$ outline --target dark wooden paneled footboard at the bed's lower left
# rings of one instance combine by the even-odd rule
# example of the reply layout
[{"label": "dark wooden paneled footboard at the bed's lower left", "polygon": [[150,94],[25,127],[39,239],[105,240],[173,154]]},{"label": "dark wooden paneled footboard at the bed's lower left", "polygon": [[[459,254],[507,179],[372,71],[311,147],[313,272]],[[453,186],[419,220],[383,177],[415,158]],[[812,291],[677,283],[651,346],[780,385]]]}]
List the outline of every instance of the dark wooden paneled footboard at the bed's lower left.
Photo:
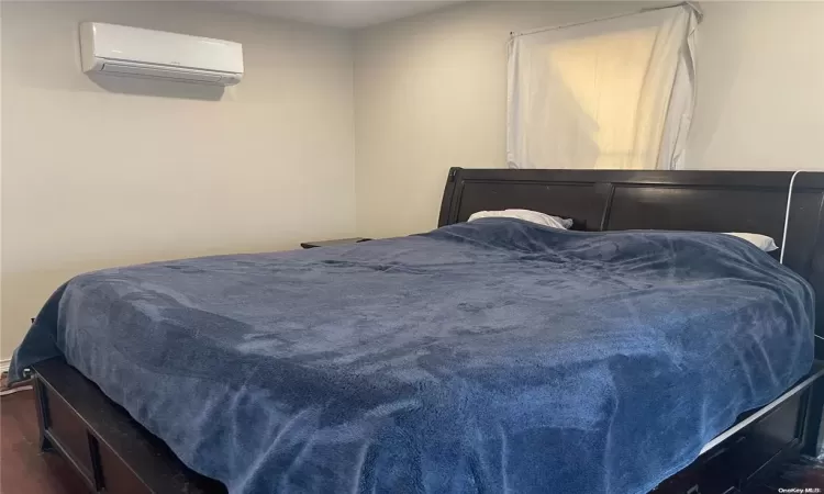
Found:
[{"label": "dark wooden paneled footboard at the bed's lower left", "polygon": [[77,370],[34,366],[41,445],[60,453],[91,492],[218,494],[226,487],[188,469],[169,448]]}]

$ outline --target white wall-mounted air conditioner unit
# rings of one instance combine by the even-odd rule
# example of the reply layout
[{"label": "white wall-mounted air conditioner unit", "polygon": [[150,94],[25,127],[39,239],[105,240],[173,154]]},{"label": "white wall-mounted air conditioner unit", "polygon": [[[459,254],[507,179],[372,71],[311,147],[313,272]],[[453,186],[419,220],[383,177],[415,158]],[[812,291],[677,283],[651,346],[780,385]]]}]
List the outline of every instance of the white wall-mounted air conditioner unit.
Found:
[{"label": "white wall-mounted air conditioner unit", "polygon": [[82,70],[216,86],[243,78],[243,46],[230,41],[83,22]]}]

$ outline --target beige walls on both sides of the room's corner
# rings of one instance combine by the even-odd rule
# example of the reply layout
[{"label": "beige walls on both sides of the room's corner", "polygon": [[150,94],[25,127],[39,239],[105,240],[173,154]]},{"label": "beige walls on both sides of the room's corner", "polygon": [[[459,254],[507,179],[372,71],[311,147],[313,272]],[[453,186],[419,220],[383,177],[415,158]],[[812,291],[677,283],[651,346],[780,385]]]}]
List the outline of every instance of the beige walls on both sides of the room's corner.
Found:
[{"label": "beige walls on both sides of the room's corner", "polygon": [[[79,272],[433,228],[450,166],[504,164],[509,32],[638,5],[475,2],[363,30],[353,54],[203,2],[3,2],[0,358]],[[823,168],[824,3],[704,9],[691,167]],[[246,77],[90,80],[83,20],[238,41]]]}]

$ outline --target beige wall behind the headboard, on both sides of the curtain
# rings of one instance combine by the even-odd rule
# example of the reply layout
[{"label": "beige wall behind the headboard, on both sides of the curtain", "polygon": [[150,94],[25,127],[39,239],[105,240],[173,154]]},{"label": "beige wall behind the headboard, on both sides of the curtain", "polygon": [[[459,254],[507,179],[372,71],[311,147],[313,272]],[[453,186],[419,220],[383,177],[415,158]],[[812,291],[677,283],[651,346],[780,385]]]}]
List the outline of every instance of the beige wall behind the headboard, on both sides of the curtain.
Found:
[{"label": "beige wall behind the headboard, on both sides of the curtain", "polygon": [[[690,166],[824,168],[824,3],[703,7]],[[505,165],[510,31],[636,8],[478,2],[359,32],[358,234],[431,229],[450,166]]]}]

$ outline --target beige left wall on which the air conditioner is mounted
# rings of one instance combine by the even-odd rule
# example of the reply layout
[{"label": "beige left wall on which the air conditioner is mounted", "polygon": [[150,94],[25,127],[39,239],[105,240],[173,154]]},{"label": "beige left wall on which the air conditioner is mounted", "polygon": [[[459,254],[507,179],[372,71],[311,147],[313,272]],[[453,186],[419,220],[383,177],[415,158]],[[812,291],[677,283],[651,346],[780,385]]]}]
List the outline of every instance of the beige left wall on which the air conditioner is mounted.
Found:
[{"label": "beige left wall on which the air conditioner is mounted", "polygon": [[[76,273],[355,233],[347,33],[208,2],[3,2],[1,15],[0,358]],[[246,76],[222,96],[94,82],[79,69],[86,20],[241,42]]]}]

